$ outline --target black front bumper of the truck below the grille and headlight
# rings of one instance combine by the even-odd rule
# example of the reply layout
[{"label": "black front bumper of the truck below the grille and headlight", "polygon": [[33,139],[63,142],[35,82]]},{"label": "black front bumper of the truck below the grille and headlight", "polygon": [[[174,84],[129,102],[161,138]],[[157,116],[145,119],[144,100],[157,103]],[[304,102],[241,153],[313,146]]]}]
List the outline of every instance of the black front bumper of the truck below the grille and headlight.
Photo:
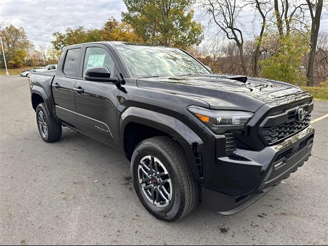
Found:
[{"label": "black front bumper of the truck below the grille and headlight", "polygon": [[[311,156],[314,128],[309,126],[280,144],[262,151],[238,149],[242,158],[218,157],[215,186],[202,188],[204,207],[233,214],[247,208],[301,167]],[[214,188],[214,189],[213,189]]]}]

